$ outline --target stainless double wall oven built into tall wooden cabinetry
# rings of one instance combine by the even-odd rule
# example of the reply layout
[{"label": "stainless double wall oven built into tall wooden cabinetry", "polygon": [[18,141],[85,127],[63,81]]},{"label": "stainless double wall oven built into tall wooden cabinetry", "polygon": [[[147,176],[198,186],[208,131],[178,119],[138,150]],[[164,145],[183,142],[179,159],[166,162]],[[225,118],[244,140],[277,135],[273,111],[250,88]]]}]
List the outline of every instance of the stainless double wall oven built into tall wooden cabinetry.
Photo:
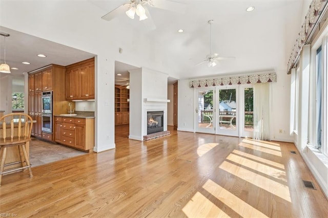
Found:
[{"label": "stainless double wall oven built into tall wooden cabinetry", "polygon": [[52,92],[43,92],[42,104],[42,131],[52,133]]}]

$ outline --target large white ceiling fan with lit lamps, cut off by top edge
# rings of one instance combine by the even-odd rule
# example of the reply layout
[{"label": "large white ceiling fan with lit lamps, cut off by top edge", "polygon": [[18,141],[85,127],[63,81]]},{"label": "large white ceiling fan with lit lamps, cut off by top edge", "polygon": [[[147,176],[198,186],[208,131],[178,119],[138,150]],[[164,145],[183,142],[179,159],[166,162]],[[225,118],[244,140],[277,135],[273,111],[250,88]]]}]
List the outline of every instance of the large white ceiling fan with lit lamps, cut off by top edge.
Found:
[{"label": "large white ceiling fan with lit lamps, cut off by top edge", "polygon": [[[171,2],[169,0],[130,0],[129,3],[123,4],[116,9],[105,14],[101,18],[110,21],[113,18],[123,14],[124,12],[128,17],[134,19],[135,14],[139,16],[139,20],[149,19],[149,22],[153,24],[152,18],[150,16],[148,6],[154,8],[160,8],[164,10],[169,10],[177,13],[185,13],[186,5],[176,2]],[[155,29],[155,25],[152,25]]]}]

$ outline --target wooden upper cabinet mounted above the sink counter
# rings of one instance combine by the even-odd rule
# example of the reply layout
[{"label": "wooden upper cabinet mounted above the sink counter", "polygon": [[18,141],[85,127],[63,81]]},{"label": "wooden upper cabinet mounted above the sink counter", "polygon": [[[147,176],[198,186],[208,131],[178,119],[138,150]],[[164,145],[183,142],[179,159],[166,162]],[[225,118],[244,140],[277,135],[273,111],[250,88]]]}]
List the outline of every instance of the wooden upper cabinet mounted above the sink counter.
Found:
[{"label": "wooden upper cabinet mounted above the sink counter", "polygon": [[66,67],[66,100],[94,99],[94,58]]}]

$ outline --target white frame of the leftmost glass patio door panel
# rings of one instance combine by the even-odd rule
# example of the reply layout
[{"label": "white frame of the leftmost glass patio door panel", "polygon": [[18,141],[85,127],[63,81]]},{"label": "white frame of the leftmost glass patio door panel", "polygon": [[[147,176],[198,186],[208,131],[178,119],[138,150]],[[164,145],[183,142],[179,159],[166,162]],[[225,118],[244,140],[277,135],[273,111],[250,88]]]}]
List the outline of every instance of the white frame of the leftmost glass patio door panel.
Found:
[{"label": "white frame of the leftmost glass patio door panel", "polygon": [[[199,119],[199,113],[198,113],[198,94],[201,91],[208,91],[212,90],[213,91],[213,119],[212,119],[212,126],[211,128],[208,127],[199,127],[198,125],[198,119]],[[216,114],[215,114],[215,104],[216,104],[216,89],[214,87],[209,87],[209,88],[201,88],[201,89],[194,89],[194,132],[195,133],[210,133],[210,134],[215,134],[215,126],[216,126]]]}]

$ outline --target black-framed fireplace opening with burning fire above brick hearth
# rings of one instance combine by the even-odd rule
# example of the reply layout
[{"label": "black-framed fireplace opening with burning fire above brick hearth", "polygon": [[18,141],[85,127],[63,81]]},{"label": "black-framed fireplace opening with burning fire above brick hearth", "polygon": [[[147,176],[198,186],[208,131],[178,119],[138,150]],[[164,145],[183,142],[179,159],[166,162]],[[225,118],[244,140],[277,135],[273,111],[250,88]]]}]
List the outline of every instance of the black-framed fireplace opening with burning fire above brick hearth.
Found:
[{"label": "black-framed fireplace opening with burning fire above brick hearth", "polygon": [[163,111],[147,112],[147,135],[164,130],[163,117]]}]

